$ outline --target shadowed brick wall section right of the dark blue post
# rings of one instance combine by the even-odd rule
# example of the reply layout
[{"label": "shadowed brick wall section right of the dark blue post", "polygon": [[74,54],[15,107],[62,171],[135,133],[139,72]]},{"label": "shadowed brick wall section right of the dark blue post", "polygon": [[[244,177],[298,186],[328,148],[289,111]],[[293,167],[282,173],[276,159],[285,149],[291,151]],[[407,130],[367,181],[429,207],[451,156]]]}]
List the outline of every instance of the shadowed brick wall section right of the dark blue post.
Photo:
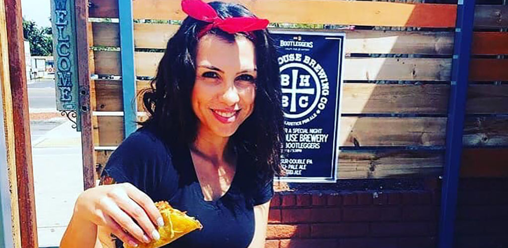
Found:
[{"label": "shadowed brick wall section right of the dark blue post", "polygon": [[508,247],[508,178],[459,181],[455,247]]}]

